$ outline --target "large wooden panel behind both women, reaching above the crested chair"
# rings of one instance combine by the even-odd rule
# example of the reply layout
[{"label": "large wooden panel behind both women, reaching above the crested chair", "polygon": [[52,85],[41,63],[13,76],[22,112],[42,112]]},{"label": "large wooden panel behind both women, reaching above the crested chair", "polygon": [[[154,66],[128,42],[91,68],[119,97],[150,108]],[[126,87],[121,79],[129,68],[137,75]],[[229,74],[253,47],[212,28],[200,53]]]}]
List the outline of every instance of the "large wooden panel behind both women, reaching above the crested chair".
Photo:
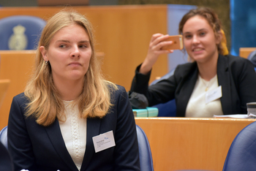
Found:
[{"label": "large wooden panel behind both women, reaching above the crested chair", "polygon": [[[1,7],[0,19],[12,15],[32,15],[48,20],[64,7]],[[67,7],[69,9],[69,7]],[[135,68],[146,58],[152,34],[167,34],[167,4],[76,6],[91,21],[96,50],[104,52],[102,73],[107,80],[129,91]],[[154,65],[151,81],[167,73],[167,55]]]}]

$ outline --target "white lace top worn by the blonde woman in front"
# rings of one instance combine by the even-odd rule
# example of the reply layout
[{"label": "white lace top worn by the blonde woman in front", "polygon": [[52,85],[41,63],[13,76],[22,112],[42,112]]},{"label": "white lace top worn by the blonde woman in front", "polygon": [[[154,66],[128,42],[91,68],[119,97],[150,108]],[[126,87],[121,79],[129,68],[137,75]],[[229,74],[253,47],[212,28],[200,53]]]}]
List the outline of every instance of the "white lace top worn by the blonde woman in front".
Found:
[{"label": "white lace top worn by the blonde woman in front", "polygon": [[61,134],[67,151],[80,170],[86,151],[86,118],[80,118],[78,105],[72,107],[72,101],[64,101],[65,122],[59,121]]}]

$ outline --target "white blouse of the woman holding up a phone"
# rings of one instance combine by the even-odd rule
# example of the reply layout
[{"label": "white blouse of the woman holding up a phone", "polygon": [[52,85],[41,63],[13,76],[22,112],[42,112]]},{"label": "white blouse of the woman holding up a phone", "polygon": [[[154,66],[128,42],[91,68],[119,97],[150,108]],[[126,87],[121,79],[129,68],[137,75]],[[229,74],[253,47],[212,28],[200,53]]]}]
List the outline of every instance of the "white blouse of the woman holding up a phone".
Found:
[{"label": "white blouse of the woman holding up a phone", "polygon": [[218,88],[218,79],[215,75],[211,80],[203,80],[198,75],[195,88],[187,104],[186,117],[190,118],[212,118],[214,115],[223,115],[220,99],[216,99],[206,104],[207,91]]}]

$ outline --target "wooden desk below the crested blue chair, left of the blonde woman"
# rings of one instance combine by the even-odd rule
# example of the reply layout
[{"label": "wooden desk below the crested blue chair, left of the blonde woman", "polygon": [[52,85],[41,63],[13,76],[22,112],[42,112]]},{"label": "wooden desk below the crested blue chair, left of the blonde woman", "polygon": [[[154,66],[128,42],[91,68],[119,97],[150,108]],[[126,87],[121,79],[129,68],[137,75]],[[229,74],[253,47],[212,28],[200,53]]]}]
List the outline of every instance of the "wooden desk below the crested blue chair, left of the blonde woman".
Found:
[{"label": "wooden desk below the crested blue chair, left of the blonde woman", "polygon": [[10,86],[0,107],[0,129],[7,126],[12,98],[24,91],[34,66],[34,50],[0,50],[0,79],[9,79]]}]

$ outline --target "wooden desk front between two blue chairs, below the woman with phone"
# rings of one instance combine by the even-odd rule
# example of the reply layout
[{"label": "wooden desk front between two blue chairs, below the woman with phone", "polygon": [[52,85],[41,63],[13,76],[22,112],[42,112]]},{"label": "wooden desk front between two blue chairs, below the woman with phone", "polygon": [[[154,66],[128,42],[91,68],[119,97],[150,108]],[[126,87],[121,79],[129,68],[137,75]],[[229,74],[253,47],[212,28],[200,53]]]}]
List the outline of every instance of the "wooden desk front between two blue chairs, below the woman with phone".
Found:
[{"label": "wooden desk front between two blue chairs, below the woman with phone", "polygon": [[135,118],[148,137],[155,171],[222,170],[236,134],[254,119]]}]

